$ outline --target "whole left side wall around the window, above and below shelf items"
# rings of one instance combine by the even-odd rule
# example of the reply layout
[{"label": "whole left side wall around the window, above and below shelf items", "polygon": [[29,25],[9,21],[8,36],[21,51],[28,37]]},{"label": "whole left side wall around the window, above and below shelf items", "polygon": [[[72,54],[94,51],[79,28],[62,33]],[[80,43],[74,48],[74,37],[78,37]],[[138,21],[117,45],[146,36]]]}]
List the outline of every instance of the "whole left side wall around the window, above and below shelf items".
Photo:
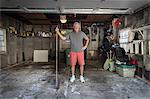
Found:
[{"label": "whole left side wall around the window, above and below shelf items", "polygon": [[[20,28],[19,33],[23,31],[24,23],[4,14],[1,15],[0,23],[1,28],[7,29],[9,26],[16,26],[16,28]],[[0,67],[22,62],[22,39],[7,32],[6,43],[7,52],[0,54]]]}]

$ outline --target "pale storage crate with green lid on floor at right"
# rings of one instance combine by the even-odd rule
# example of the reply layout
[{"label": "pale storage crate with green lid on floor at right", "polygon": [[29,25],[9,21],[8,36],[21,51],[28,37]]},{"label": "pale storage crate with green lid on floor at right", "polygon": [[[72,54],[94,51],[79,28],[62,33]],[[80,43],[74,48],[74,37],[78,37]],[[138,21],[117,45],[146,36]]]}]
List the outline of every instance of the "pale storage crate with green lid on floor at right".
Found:
[{"label": "pale storage crate with green lid on floor at right", "polygon": [[115,65],[116,72],[123,77],[134,77],[135,74],[135,66],[134,65]]}]

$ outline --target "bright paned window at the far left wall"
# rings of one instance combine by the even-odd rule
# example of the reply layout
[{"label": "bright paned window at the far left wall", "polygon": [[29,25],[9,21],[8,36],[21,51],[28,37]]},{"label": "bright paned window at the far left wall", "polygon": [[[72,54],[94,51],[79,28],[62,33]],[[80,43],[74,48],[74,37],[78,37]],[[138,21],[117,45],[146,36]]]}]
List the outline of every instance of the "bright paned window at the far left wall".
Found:
[{"label": "bright paned window at the far left wall", "polygon": [[6,52],[6,29],[0,29],[0,52]]}]

